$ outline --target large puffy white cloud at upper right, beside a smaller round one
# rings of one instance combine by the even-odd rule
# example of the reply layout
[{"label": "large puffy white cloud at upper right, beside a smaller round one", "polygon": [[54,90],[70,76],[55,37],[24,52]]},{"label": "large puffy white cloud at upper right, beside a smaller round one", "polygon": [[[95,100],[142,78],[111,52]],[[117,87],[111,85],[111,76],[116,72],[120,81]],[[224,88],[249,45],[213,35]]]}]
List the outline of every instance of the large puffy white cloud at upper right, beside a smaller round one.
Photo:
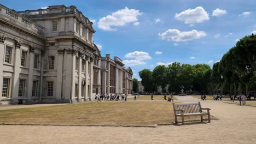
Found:
[{"label": "large puffy white cloud at upper right, beside a smaller round one", "polygon": [[200,23],[210,20],[208,13],[202,7],[187,9],[179,14],[176,13],[175,18],[177,20],[184,21],[186,24]]}]

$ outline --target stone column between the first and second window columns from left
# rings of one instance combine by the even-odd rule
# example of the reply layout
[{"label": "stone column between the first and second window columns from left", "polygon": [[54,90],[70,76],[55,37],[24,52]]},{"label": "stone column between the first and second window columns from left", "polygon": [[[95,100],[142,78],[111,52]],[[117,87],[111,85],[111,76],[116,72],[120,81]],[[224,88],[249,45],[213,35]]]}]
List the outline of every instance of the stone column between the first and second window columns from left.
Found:
[{"label": "stone column between the first and second window columns from left", "polygon": [[14,73],[13,73],[13,97],[11,104],[18,104],[18,92],[19,92],[19,77],[20,77],[20,47],[21,41],[16,41],[15,57],[14,57]]}]

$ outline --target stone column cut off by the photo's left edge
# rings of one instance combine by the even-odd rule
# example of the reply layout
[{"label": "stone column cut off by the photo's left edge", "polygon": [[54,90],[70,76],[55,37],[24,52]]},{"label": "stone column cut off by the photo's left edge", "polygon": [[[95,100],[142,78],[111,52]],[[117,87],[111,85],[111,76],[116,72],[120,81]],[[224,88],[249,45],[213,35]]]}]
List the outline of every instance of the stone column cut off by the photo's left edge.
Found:
[{"label": "stone column cut off by the photo's left edge", "polygon": [[[0,55],[3,56],[0,59],[0,68],[3,68],[3,62],[4,62],[4,41],[6,37],[4,35],[0,35]],[[2,98],[2,88],[3,87],[3,69],[0,70],[0,105],[2,104],[1,98]]]}]

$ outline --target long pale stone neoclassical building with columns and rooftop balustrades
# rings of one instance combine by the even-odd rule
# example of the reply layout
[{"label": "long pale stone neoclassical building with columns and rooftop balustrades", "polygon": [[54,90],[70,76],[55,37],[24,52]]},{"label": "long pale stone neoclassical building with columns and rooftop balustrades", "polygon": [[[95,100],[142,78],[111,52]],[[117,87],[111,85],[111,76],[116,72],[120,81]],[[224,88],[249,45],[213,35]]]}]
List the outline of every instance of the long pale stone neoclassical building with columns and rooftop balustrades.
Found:
[{"label": "long pale stone neoclassical building with columns and rooftop balustrades", "polygon": [[[111,70],[92,24],[74,6],[17,12],[0,4],[0,104],[77,103],[109,94]],[[113,77],[118,88],[111,92],[130,94],[132,70],[119,64],[125,80]]]}]

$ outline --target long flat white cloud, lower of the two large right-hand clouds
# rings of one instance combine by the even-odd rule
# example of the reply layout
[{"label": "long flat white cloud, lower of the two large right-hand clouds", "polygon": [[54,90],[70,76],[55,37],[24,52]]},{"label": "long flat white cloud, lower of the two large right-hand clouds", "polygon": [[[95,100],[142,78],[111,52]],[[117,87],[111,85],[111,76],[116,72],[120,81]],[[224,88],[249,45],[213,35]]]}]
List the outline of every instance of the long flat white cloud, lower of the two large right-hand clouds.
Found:
[{"label": "long flat white cloud, lower of the two large right-hand clouds", "polygon": [[193,39],[200,39],[201,37],[205,37],[207,34],[204,31],[184,31],[181,32],[178,29],[168,29],[164,33],[158,33],[162,40],[171,40],[171,41],[189,41]]}]

